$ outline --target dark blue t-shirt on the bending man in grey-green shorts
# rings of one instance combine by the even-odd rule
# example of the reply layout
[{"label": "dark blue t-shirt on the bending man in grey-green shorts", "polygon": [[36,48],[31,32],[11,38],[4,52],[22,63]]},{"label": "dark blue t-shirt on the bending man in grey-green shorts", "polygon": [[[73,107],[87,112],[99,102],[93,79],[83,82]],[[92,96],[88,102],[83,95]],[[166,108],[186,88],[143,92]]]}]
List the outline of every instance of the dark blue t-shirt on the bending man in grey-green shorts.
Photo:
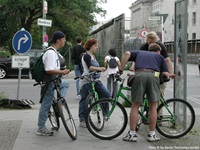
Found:
[{"label": "dark blue t-shirt on the bending man in grey-green shorts", "polygon": [[169,72],[163,56],[156,52],[132,51],[129,61],[135,62],[135,70],[152,69],[157,72]]}]

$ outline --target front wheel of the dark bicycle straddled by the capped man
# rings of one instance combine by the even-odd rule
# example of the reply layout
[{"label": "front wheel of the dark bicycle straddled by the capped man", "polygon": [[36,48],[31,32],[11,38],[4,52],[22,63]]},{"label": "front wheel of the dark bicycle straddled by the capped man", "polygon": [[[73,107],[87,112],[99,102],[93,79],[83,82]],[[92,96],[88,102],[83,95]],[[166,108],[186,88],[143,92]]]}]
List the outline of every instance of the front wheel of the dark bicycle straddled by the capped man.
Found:
[{"label": "front wheel of the dark bicycle straddled by the capped man", "polygon": [[76,140],[77,139],[76,125],[72,117],[72,114],[70,113],[67,102],[65,101],[64,98],[58,100],[58,106],[59,106],[60,117],[67,133],[73,140]]}]

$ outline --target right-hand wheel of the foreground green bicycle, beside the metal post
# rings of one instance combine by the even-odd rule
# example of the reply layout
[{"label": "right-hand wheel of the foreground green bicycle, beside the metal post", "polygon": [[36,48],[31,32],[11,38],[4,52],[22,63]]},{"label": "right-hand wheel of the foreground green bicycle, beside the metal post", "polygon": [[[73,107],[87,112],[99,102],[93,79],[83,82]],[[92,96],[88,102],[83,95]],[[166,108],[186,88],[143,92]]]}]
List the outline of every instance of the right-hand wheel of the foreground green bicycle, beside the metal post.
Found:
[{"label": "right-hand wheel of the foreground green bicycle, beside the metal post", "polygon": [[179,138],[186,135],[195,122],[193,107],[187,101],[176,98],[166,100],[165,103],[167,108],[163,104],[157,108],[158,114],[162,110],[163,115],[158,116],[156,129],[168,138]]}]

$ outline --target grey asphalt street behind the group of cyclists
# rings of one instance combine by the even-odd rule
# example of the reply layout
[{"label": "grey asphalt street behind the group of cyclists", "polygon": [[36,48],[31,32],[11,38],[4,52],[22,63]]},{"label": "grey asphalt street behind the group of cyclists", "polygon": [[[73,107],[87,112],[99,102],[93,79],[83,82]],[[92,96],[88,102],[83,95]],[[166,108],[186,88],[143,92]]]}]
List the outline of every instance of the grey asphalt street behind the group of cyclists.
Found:
[{"label": "grey asphalt street behind the group of cyclists", "polygon": [[[200,108],[200,75],[198,66],[194,64],[189,64],[187,68],[187,100],[195,107]],[[127,71],[128,72],[128,71]],[[124,73],[126,75],[126,73]],[[70,88],[68,89],[67,101],[69,103],[77,103],[76,100],[76,88],[74,80],[74,72],[72,71],[65,78],[70,83]],[[101,80],[106,85],[106,78],[104,73],[101,75]],[[19,86],[19,99],[30,99],[35,104],[39,103],[40,97],[40,87],[34,87],[34,80],[30,79],[21,79]],[[0,89],[1,92],[8,97],[9,99],[17,98],[17,89],[18,89],[18,79],[17,78],[6,78],[0,80]],[[173,80],[167,83],[167,89],[165,92],[165,98],[173,97]]]}]

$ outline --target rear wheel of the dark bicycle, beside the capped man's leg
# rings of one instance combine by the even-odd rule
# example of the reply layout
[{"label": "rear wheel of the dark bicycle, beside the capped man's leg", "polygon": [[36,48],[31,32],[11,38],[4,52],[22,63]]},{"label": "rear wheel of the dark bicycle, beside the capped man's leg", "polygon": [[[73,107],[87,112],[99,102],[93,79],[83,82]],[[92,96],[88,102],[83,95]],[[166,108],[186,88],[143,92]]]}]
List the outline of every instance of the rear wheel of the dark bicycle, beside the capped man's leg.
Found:
[{"label": "rear wheel of the dark bicycle, beside the capped man's leg", "polygon": [[57,107],[56,103],[53,102],[48,114],[48,118],[53,127],[52,128],[53,130],[58,130],[60,128],[59,112],[56,107]]}]

